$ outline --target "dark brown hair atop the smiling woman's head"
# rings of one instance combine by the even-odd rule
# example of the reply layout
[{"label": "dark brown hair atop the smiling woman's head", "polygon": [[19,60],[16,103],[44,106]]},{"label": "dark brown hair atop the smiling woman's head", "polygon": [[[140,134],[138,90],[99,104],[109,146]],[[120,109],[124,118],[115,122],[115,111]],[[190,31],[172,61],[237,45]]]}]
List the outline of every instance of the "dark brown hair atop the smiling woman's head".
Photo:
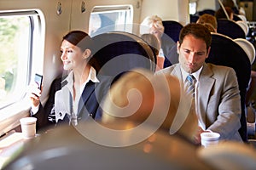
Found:
[{"label": "dark brown hair atop the smiling woman's head", "polygon": [[91,38],[84,31],[70,31],[63,37],[63,40],[67,40],[67,42],[78,46],[82,51],[92,48]]}]

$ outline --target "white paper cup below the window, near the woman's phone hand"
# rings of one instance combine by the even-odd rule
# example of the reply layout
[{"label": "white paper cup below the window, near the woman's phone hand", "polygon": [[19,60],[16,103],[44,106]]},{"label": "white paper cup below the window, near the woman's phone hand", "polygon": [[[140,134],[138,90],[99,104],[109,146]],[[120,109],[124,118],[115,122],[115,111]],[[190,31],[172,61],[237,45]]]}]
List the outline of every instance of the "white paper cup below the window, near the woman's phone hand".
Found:
[{"label": "white paper cup below the window, near the woman's phone hand", "polygon": [[36,117],[25,117],[20,119],[20,126],[24,139],[32,139],[36,136],[36,122]]}]

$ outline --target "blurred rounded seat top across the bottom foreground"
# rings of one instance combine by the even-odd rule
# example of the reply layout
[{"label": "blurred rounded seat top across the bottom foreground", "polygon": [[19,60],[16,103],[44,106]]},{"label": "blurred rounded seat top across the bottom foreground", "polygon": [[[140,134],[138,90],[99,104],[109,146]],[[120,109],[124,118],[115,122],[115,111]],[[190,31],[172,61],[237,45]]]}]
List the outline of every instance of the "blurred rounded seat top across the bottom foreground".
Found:
[{"label": "blurred rounded seat top across the bottom foreground", "polygon": [[[28,140],[4,169],[212,169],[195,155],[196,146],[181,136],[135,125],[58,126]],[[150,135],[144,138],[145,134]]]}]

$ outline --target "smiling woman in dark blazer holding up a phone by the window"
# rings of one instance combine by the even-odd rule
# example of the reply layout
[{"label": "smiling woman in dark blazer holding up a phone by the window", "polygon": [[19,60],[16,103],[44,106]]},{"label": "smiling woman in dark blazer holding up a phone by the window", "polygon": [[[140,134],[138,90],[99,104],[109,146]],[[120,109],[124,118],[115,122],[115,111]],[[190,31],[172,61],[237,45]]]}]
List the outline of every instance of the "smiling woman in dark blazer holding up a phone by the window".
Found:
[{"label": "smiling woman in dark blazer holding up a phone by the window", "polygon": [[89,117],[102,115],[100,102],[108,92],[109,77],[96,75],[92,66],[93,42],[84,31],[70,31],[61,42],[63,69],[70,71],[66,78],[56,79],[51,86],[47,104],[40,104],[41,90],[31,86],[31,115],[38,118],[38,127],[59,122],[77,125]]}]

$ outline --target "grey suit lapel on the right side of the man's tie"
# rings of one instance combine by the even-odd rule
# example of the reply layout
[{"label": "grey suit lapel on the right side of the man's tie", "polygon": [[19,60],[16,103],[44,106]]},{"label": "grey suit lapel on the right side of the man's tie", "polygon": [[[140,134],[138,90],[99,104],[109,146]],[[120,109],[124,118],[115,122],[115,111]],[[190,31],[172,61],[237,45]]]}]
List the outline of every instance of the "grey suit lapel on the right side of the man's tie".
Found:
[{"label": "grey suit lapel on the right side of the man's tie", "polygon": [[[212,86],[215,82],[215,79],[212,78],[212,71],[208,67],[207,64],[203,66],[203,69],[201,71],[201,76],[200,76],[200,82],[198,84],[198,89],[197,89],[197,108],[198,108],[198,118],[201,119],[201,122],[206,123],[206,116],[207,116],[207,105],[210,97],[210,93],[212,90]],[[200,105],[199,105],[200,104]],[[206,125],[204,124],[205,128]]]}]

